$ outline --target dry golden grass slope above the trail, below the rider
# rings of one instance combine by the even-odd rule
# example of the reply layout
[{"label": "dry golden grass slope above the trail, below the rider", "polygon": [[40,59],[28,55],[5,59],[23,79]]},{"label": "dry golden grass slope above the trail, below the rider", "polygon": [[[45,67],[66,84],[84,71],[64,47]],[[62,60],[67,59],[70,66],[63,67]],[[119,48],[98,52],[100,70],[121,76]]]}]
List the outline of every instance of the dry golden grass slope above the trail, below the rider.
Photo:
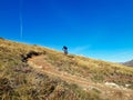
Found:
[{"label": "dry golden grass slope above the trail, below the rider", "polygon": [[133,68],[78,56],[50,53],[44,58],[61,71],[91,79],[95,82],[112,81],[119,84],[133,83]]}]

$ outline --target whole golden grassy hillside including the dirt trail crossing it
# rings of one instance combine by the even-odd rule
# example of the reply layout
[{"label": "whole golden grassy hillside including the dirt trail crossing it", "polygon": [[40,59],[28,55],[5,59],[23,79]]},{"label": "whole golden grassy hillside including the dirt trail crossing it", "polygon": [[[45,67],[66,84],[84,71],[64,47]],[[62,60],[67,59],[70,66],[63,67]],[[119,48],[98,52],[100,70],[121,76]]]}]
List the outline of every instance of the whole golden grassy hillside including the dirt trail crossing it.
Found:
[{"label": "whole golden grassy hillside including the dirt trail crossing it", "polygon": [[0,100],[132,100],[132,89],[133,68],[0,39]]}]

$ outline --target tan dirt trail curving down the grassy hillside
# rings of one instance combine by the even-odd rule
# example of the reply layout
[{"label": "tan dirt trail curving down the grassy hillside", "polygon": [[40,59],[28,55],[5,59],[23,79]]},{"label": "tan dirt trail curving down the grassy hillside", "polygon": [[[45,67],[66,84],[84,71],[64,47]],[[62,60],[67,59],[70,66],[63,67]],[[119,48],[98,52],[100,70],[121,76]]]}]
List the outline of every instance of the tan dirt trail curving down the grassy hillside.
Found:
[{"label": "tan dirt trail curving down the grassy hillside", "polygon": [[[48,61],[45,61],[44,58],[45,58],[44,56],[33,57],[33,58],[29,59],[28,63],[39,71],[43,71],[44,73],[47,73],[49,76],[59,77],[69,83],[75,83],[75,84],[82,87],[84,90],[98,89],[99,91],[101,91],[102,93],[104,93],[106,96],[113,93],[115,90],[121,90],[121,91],[130,93],[130,94],[133,93],[133,91],[131,91],[129,89],[124,90],[121,88],[120,89],[111,88],[111,87],[105,86],[104,83],[94,83],[84,78],[72,76],[64,71],[59,71],[58,69],[55,69],[55,67],[53,67]],[[109,92],[109,94],[108,94],[108,92]]]}]

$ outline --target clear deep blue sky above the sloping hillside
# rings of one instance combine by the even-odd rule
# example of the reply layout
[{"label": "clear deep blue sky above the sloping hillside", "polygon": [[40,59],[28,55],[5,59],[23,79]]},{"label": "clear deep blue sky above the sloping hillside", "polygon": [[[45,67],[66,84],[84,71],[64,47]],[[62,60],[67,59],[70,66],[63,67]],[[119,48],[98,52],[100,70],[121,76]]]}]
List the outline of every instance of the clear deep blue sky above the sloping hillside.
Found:
[{"label": "clear deep blue sky above the sloping hillside", "polygon": [[0,37],[127,61],[133,59],[133,0],[0,0]]}]

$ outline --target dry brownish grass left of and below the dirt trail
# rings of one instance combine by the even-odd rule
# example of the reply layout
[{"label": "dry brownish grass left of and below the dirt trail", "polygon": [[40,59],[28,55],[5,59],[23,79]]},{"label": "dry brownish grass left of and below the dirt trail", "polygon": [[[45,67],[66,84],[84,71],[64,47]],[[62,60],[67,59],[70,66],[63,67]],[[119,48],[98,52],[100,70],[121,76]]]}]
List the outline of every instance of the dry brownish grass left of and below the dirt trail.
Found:
[{"label": "dry brownish grass left of and below the dirt trail", "polygon": [[47,52],[47,56],[60,53],[38,46],[0,39],[0,100],[90,99],[91,92],[85,92],[61,79],[38,72],[22,62],[20,54],[27,54],[30,51]]}]

